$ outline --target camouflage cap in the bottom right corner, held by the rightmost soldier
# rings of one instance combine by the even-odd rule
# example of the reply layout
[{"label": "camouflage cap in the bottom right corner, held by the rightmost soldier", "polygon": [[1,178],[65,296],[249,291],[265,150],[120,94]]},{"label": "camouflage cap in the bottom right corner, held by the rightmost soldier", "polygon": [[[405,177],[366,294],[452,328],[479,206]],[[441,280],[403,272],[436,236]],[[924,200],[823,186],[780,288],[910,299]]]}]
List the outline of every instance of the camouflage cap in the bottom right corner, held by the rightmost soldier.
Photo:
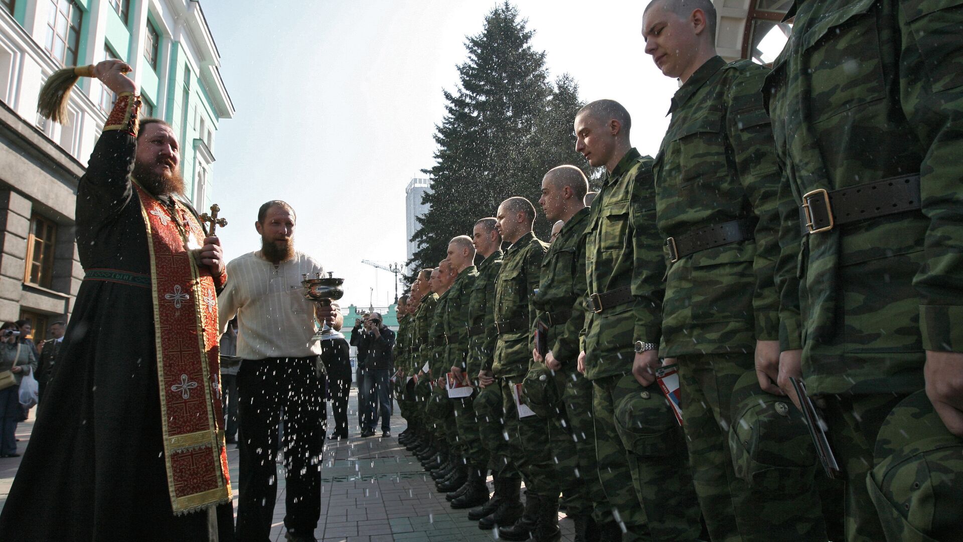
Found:
[{"label": "camouflage cap in the bottom right corner, held by the rightmost soldier", "polygon": [[960,536],[963,439],[953,435],[924,391],[899,402],[876,436],[870,496],[888,537]]}]

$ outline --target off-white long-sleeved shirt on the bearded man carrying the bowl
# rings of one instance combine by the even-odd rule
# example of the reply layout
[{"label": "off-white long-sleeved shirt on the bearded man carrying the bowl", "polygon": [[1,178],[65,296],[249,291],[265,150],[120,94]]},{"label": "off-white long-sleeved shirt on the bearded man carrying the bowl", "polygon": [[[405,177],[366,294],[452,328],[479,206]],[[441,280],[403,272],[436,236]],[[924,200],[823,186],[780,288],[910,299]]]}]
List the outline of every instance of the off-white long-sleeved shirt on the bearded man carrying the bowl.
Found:
[{"label": "off-white long-sleeved shirt on the bearded man carrying the bowl", "polygon": [[313,257],[295,257],[274,264],[247,253],[227,264],[227,285],[218,296],[221,333],[236,313],[237,356],[242,360],[306,358],[321,354],[314,302],[304,298],[302,275],[324,272]]}]

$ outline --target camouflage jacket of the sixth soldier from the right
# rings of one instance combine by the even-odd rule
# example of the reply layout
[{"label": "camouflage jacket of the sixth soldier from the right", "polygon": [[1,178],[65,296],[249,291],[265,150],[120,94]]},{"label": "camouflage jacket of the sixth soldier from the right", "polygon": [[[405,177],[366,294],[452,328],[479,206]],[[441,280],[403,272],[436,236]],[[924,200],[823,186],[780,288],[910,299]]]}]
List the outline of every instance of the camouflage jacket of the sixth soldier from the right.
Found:
[{"label": "camouflage jacket of the sixth soldier from the right", "polygon": [[478,277],[472,285],[468,301],[468,325],[476,328],[468,339],[466,369],[472,381],[478,380],[481,369],[491,370],[492,354],[495,352],[495,278],[502,268],[501,250],[495,251],[478,266]]}]

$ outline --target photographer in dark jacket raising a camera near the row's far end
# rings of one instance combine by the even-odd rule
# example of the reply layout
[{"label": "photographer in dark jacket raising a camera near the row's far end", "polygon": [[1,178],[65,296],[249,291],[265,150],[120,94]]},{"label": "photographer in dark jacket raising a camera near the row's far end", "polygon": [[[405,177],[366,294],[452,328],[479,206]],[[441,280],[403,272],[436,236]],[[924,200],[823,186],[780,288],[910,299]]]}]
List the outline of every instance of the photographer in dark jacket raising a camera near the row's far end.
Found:
[{"label": "photographer in dark jacket raising a camera near the row's far end", "polygon": [[[367,412],[363,423],[362,437],[375,434],[378,410],[381,411],[381,436],[391,436],[391,373],[394,361],[391,357],[395,347],[395,332],[381,321],[381,314],[372,312],[364,322],[368,355],[365,357],[363,389],[371,393],[366,401]],[[377,388],[377,390],[376,390]],[[377,394],[376,394],[377,393]]]}]

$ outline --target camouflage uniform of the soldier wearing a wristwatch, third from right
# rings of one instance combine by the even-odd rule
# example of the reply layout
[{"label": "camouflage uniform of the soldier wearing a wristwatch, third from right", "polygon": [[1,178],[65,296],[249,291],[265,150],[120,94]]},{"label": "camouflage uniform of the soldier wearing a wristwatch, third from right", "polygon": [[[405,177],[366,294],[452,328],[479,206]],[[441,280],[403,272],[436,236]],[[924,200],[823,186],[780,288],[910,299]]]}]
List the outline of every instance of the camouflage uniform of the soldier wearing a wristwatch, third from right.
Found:
[{"label": "camouflage uniform of the soldier wearing a wristwatch, third from right", "polygon": [[[630,149],[606,178],[592,203],[586,237],[586,293],[629,288],[620,304],[586,312],[586,379],[592,382],[592,418],[597,477],[612,511],[624,523],[626,540],[692,540],[699,534],[699,510],[684,448],[669,405],[646,404],[645,423],[623,429],[640,438],[620,438],[616,399],[642,387],[631,373],[635,340],[657,342],[662,317],[665,265],[655,225],[652,158]],[[564,348],[571,355],[572,348]],[[627,390],[625,390],[627,389]],[[658,393],[658,390],[649,392]],[[639,395],[640,396],[640,395]],[[663,434],[666,433],[666,434]],[[631,446],[627,446],[626,440]],[[642,447],[637,443],[651,442]],[[633,481],[630,486],[626,483]]]}]

